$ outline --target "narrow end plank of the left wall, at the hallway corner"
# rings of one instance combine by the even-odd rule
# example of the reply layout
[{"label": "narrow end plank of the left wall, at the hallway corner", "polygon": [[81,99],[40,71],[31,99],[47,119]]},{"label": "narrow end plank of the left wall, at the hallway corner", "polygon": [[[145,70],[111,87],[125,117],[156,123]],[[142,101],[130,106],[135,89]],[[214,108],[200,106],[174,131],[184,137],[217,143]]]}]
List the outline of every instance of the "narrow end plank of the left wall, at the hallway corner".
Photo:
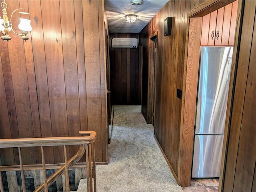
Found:
[{"label": "narrow end plank of the left wall, at the hallway corner", "polygon": [[[106,80],[106,36],[104,25],[104,1],[98,2],[99,12],[99,48],[100,48],[100,87],[101,87],[101,140],[102,140],[102,162],[108,161],[108,119],[107,119],[107,80]],[[103,45],[103,46],[101,46]]]}]

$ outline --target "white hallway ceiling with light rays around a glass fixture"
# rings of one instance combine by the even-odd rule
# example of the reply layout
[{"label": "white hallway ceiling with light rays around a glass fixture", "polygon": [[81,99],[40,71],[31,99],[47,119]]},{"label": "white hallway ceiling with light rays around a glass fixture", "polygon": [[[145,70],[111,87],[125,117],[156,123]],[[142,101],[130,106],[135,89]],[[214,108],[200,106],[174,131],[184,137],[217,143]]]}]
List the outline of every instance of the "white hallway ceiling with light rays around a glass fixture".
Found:
[{"label": "white hallway ceiling with light rays around a glass fixture", "polygon": [[[139,33],[162,9],[168,0],[143,0],[142,5],[132,5],[130,0],[105,0],[110,33]],[[125,15],[137,15],[137,21],[128,23]]]}]

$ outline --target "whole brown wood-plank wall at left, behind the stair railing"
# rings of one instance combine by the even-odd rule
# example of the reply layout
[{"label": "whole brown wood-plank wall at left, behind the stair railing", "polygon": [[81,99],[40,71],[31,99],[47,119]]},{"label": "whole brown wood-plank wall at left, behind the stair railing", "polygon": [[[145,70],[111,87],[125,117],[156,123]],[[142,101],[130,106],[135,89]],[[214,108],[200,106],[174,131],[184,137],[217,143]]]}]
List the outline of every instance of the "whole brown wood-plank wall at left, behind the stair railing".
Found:
[{"label": "whole brown wood-plank wall at left, behind the stair railing", "polygon": [[[32,31],[27,42],[12,32],[10,42],[0,41],[1,139],[93,130],[96,160],[106,162],[104,1],[8,1],[8,13],[16,8],[30,12]],[[68,148],[70,157],[76,149]],[[22,150],[24,164],[41,163],[40,150]],[[47,151],[46,163],[64,162],[62,148]],[[1,150],[2,165],[18,164],[17,154]]]}]

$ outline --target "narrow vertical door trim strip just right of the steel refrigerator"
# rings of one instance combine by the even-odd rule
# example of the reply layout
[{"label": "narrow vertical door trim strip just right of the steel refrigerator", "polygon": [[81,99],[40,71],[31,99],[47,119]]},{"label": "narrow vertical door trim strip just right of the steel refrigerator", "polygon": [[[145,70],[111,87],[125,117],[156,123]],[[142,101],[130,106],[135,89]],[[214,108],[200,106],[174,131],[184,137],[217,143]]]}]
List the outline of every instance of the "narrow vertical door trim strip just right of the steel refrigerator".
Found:
[{"label": "narrow vertical door trim strip just right of the steel refrigerator", "polygon": [[[227,112],[226,112],[226,124],[224,129],[224,140],[223,140],[223,149],[222,149],[222,160],[220,165],[220,179],[219,179],[219,192],[223,191],[223,184],[224,184],[224,170],[226,169],[226,155],[228,151],[228,138],[229,138],[229,132],[230,132],[230,120],[231,120],[231,113],[232,113],[232,94],[234,91],[234,79],[235,79],[235,68],[236,63],[238,59],[238,39],[240,38],[241,34],[239,34],[239,30],[242,24],[241,20],[242,16],[242,1],[238,1],[238,13],[236,17],[236,33],[235,33],[235,39],[234,39],[234,49],[233,49],[233,59],[232,59],[232,67],[231,67],[231,75],[230,75],[230,85],[228,90],[228,104],[227,104]],[[231,79],[233,81],[231,81]]]}]

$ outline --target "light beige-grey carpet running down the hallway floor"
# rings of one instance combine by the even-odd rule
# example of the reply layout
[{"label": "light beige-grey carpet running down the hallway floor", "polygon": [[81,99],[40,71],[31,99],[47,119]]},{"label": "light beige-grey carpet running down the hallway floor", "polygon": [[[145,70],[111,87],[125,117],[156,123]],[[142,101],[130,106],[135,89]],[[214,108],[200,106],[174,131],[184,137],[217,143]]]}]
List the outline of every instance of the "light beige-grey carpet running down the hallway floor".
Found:
[{"label": "light beige-grey carpet running down the hallway floor", "polygon": [[[141,106],[114,107],[108,165],[96,166],[98,192],[182,192],[154,139]],[[86,191],[86,179],[78,192]]]}]

